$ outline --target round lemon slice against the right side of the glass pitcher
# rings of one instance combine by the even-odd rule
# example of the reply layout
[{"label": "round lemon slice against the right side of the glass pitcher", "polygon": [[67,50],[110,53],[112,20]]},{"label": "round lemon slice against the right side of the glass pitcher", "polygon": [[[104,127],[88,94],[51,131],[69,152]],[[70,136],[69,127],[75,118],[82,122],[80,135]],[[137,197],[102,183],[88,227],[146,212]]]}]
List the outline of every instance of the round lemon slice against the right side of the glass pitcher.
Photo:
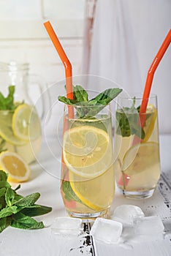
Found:
[{"label": "round lemon slice against the right side of the glass pitcher", "polygon": [[19,105],[12,116],[12,130],[20,140],[36,140],[41,127],[34,108],[27,104]]}]

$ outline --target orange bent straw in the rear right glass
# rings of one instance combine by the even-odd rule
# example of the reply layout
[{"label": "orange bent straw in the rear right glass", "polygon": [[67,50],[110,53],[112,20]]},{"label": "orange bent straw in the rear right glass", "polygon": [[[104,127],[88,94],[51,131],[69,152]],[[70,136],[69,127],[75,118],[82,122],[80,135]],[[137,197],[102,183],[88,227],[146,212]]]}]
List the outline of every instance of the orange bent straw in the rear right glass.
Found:
[{"label": "orange bent straw in the rear right glass", "polygon": [[[153,62],[151,64],[150,69],[148,70],[148,75],[145,83],[145,89],[142,97],[142,103],[140,106],[140,114],[146,112],[146,108],[148,105],[148,98],[151,92],[151,85],[153,82],[153,75],[156,71],[156,68],[158,67],[162,57],[164,56],[165,51],[169,47],[171,42],[171,29],[167,34],[167,37],[165,37],[164,42],[161,45],[161,48],[159,48],[159,52],[156,54],[156,57],[153,59]],[[143,116],[143,118],[142,118]],[[145,115],[140,115],[141,120],[141,126],[144,127],[145,124]]]}]

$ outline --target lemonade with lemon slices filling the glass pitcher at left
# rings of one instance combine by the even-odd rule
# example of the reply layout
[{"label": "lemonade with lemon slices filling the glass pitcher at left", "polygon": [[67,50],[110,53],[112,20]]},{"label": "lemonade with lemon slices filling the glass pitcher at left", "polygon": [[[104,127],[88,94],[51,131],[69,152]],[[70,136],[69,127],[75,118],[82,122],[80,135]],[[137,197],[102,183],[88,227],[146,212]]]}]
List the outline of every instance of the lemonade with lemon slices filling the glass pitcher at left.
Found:
[{"label": "lemonade with lemon slices filling the glass pitcher at left", "polygon": [[0,151],[13,151],[27,163],[33,162],[42,142],[37,112],[19,104],[15,110],[0,110],[0,120]]}]

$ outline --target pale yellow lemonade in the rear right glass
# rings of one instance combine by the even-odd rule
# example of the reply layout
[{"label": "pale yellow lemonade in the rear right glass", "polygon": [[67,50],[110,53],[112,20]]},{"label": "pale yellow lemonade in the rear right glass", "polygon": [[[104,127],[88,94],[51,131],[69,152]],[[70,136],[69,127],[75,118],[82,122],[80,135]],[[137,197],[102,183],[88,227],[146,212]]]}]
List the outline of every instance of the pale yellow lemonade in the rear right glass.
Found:
[{"label": "pale yellow lemonade in the rear right glass", "polygon": [[[158,121],[153,127],[151,137],[145,143],[152,143],[154,148],[158,148],[155,154],[148,154],[145,161],[138,161],[138,156],[134,156],[132,170],[123,170],[123,162],[126,159],[126,153],[129,148],[134,146],[134,135],[129,137],[122,137],[115,132],[115,179],[120,189],[129,192],[145,192],[156,187],[160,176],[160,159],[159,159],[159,134],[158,134]],[[143,141],[141,141],[143,143]],[[146,163],[148,163],[146,165]],[[124,165],[129,163],[124,162]],[[144,168],[143,168],[144,167]],[[142,170],[143,169],[143,170]]]}]

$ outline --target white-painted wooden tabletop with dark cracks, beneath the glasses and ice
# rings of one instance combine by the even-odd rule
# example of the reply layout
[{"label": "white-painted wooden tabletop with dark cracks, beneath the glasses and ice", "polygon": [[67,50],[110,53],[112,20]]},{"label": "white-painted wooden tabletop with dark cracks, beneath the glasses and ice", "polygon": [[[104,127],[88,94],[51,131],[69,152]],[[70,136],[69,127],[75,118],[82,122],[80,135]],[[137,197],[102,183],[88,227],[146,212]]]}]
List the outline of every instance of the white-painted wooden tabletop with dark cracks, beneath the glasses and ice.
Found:
[{"label": "white-painted wooden tabletop with dark cracks, beneath the glasses and ice", "polygon": [[[94,242],[89,236],[90,225],[84,225],[84,231],[80,236],[64,237],[51,232],[50,225],[56,217],[66,216],[61,195],[59,192],[59,179],[56,178],[61,171],[60,151],[56,147],[56,140],[50,140],[48,146],[44,143],[39,155],[39,165],[31,165],[31,180],[21,184],[21,195],[32,192],[40,192],[38,203],[52,206],[53,211],[44,216],[37,217],[42,220],[45,228],[42,230],[19,230],[8,227],[0,233],[1,256],[169,256],[171,255],[171,135],[160,136],[161,146],[161,178],[159,186],[153,197],[146,200],[128,200],[116,192],[113,200],[112,211],[123,203],[137,205],[142,208],[145,216],[159,216],[164,223],[167,236],[161,241],[151,241],[134,244],[133,249],[124,249],[121,246],[107,245]],[[47,171],[44,170],[46,168]],[[12,184],[12,187],[16,185]]]}]

